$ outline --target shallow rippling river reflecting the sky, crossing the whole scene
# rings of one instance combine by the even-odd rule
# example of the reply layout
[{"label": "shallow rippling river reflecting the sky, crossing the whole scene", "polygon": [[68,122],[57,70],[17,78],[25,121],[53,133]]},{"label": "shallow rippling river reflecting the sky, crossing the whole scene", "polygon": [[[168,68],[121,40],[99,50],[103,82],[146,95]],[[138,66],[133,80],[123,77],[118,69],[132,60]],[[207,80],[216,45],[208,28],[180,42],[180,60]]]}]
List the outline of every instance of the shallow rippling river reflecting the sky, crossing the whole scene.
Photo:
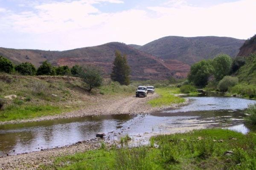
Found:
[{"label": "shallow rippling river reflecting the sky, crossing the whole scene", "polygon": [[136,142],[147,142],[157,134],[186,132],[208,127],[229,128],[247,133],[244,110],[256,101],[225,97],[186,97],[189,105],[146,115],[85,116],[44,122],[0,126],[0,156],[61,147],[93,139],[98,132],[107,140],[128,134]]}]

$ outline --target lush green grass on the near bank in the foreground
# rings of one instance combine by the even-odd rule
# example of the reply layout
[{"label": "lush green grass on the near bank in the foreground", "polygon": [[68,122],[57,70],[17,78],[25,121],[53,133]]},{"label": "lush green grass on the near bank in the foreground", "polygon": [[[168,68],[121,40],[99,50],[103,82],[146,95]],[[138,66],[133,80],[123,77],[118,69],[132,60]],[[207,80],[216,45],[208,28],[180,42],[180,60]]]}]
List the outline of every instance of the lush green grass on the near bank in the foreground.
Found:
[{"label": "lush green grass on the near bank in the foreground", "polygon": [[[256,170],[256,134],[205,129],[153,137],[159,147],[111,147],[55,158],[48,170]],[[231,151],[226,155],[226,151]]]}]

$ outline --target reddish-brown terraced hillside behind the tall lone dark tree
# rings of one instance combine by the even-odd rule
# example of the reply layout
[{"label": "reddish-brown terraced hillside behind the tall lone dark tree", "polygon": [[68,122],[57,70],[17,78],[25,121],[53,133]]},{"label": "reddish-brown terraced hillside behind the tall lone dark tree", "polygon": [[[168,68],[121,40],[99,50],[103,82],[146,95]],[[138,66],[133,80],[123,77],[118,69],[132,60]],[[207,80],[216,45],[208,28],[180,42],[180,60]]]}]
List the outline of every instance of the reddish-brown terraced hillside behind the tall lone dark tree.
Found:
[{"label": "reddish-brown terraced hillside behind the tall lone dark tree", "polygon": [[165,62],[119,42],[110,42],[104,45],[68,51],[0,48],[0,55],[11,59],[15,63],[32,62],[36,66],[41,65],[46,59],[53,65],[93,65],[99,67],[104,75],[109,76],[116,50],[127,55],[128,64],[131,66],[132,79],[166,79],[171,75],[183,78],[186,77],[190,69],[189,65],[177,60]]}]

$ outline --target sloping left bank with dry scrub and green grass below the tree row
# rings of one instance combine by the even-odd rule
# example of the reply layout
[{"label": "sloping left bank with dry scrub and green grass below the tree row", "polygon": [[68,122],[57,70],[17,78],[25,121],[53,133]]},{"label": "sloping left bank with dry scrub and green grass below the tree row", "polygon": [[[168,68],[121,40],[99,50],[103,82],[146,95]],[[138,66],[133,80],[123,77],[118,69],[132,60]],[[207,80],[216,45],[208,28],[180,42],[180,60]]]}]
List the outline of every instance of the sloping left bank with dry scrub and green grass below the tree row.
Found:
[{"label": "sloping left bank with dry scrub and green grass below the tree row", "polygon": [[[95,97],[131,95],[135,89],[133,85],[105,80],[99,89],[88,93],[85,83],[77,77],[0,74],[0,121],[31,119],[87,108],[97,105],[93,100]],[[9,95],[16,97],[5,99]]]}]

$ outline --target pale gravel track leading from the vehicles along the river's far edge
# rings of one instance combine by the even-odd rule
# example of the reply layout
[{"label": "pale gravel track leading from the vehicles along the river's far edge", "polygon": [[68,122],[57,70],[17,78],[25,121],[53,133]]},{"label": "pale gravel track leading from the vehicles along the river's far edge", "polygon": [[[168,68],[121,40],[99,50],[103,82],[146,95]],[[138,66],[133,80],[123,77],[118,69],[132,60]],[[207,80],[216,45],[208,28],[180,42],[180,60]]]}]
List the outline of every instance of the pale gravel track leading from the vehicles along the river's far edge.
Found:
[{"label": "pale gravel track leading from the vehicles along the river's far edge", "polygon": [[[111,98],[97,98],[95,105],[88,108],[84,108],[78,111],[72,111],[68,113],[57,114],[53,116],[44,116],[34,119],[13,120],[7,122],[0,122],[0,125],[5,124],[17,124],[25,122],[39,122],[44,120],[53,119],[68,119],[72,117],[81,117],[89,115],[108,115],[108,114],[138,114],[149,113],[157,110],[148,105],[150,99],[154,99],[158,94],[148,94],[147,97],[135,97],[135,96],[116,96]],[[159,108],[158,108],[159,109]]]}]

